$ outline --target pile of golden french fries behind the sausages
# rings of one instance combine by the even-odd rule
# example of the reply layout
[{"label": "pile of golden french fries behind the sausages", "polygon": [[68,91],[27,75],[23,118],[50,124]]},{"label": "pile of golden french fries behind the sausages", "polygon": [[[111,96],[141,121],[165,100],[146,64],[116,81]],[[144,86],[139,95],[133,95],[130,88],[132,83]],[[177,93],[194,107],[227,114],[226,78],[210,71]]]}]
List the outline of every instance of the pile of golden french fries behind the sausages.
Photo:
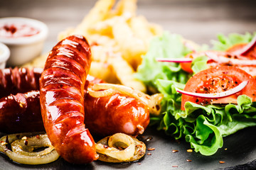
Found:
[{"label": "pile of golden french fries behind the sausages", "polygon": [[[134,72],[148,50],[149,41],[161,35],[162,28],[149,23],[144,16],[137,16],[136,11],[137,0],[98,0],[82,22],[61,32],[58,40],[68,35],[84,35],[92,50],[90,75],[145,92],[144,84],[134,79]],[[46,57],[39,57],[30,65],[43,67]]]}]

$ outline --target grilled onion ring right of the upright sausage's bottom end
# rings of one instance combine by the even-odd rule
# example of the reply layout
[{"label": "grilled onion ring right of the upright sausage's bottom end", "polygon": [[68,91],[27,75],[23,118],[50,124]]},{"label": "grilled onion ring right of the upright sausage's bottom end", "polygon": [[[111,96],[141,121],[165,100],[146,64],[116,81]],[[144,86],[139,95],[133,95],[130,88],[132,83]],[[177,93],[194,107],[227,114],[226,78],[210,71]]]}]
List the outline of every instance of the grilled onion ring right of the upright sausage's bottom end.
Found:
[{"label": "grilled onion ring right of the upright sausage's bottom end", "polygon": [[137,138],[116,133],[97,142],[96,152],[102,162],[134,162],[146,153],[146,145]]}]

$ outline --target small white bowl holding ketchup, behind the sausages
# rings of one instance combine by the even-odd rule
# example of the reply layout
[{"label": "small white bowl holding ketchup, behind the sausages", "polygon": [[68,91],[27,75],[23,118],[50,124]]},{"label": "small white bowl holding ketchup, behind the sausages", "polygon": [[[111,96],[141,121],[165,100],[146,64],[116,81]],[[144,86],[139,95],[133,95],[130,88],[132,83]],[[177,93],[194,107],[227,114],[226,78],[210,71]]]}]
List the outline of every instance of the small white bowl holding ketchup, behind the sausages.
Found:
[{"label": "small white bowl holding ketchup, behind the sausages", "polygon": [[21,37],[4,37],[0,35],[0,42],[3,42],[11,50],[11,56],[7,61],[10,66],[18,66],[31,61],[41,55],[43,44],[48,35],[48,27],[45,23],[31,18],[9,17],[0,18],[0,26],[4,24],[24,24],[39,31],[35,35]]}]

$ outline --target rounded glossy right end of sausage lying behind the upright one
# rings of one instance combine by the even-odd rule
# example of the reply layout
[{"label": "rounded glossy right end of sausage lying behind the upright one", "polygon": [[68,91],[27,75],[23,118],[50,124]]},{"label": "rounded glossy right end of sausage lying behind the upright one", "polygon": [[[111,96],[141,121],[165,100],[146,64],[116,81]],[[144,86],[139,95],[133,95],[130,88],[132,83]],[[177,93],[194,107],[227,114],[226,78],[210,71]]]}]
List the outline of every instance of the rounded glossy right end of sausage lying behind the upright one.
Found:
[{"label": "rounded glossy right end of sausage lying behind the upright one", "polygon": [[136,98],[118,93],[100,98],[86,94],[85,103],[85,124],[92,134],[139,135],[149,125],[149,109]]}]

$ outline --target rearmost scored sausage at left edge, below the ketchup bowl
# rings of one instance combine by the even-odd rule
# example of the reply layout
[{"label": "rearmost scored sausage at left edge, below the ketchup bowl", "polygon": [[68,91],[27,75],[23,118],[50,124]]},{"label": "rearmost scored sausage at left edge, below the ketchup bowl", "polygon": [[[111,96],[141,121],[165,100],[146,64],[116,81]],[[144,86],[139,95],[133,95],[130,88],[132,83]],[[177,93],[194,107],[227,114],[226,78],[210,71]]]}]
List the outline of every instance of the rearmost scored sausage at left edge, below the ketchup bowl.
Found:
[{"label": "rearmost scored sausage at left edge, below the ketchup bowl", "polygon": [[0,98],[39,89],[41,68],[0,69]]}]

